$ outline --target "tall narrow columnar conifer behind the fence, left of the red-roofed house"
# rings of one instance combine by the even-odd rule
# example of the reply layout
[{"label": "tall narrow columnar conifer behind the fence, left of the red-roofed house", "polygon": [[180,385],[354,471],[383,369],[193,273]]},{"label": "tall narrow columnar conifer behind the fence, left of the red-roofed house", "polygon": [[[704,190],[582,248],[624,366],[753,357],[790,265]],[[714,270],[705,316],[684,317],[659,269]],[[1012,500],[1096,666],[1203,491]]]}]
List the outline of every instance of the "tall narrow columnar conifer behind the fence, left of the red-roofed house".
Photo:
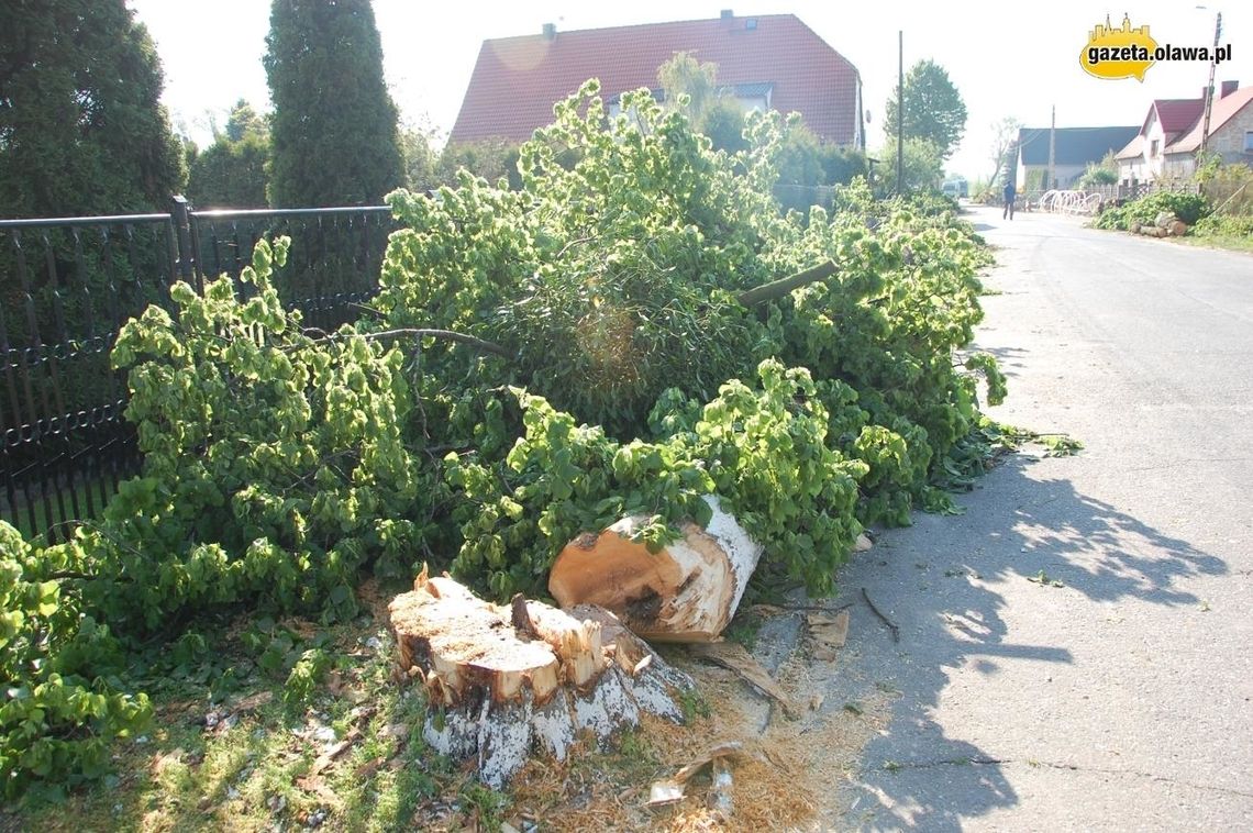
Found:
[{"label": "tall narrow columnar conifer behind the fence, left of the red-roofed house", "polygon": [[403,182],[396,105],[370,0],[274,0],[269,202],[377,203]]}]

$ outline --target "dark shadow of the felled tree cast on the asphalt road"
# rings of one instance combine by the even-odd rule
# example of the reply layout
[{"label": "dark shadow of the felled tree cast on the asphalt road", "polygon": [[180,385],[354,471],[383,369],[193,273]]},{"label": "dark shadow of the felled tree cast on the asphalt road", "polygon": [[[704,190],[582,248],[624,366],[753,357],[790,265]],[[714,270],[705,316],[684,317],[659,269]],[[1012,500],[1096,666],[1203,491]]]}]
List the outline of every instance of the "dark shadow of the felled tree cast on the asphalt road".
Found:
[{"label": "dark shadow of the felled tree cast on the asphalt road", "polygon": [[[852,774],[843,802],[852,809],[841,828],[957,830],[966,819],[1017,803],[1005,769],[1031,762],[997,760],[946,737],[935,719],[946,689],[956,686],[952,696],[970,703],[976,695],[967,686],[1009,660],[1041,663],[1041,683],[1050,664],[1074,661],[1065,645],[1007,631],[1002,591],[1012,582],[1030,581],[1022,587],[1039,592],[1040,605],[1075,592],[1093,601],[1193,605],[1197,596],[1180,581],[1228,571],[1187,541],[1076,492],[1070,481],[1049,479],[1048,462],[1010,457],[964,501],[965,515],[917,515],[915,526],[883,534],[841,574],[847,600],[865,587],[901,633],[893,644],[865,604],[855,606],[833,696],[855,701],[872,686],[901,696]],[[1024,701],[1031,703],[1030,693]]]}]

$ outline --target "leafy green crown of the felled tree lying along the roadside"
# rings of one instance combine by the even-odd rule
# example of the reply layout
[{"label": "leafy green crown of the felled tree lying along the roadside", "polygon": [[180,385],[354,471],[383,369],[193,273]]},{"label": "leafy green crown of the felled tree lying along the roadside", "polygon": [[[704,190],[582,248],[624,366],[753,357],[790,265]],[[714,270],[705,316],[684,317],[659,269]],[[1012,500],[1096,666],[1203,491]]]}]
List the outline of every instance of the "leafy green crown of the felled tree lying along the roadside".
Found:
[{"label": "leafy green crown of the felled tree lying along the roadside", "polygon": [[[657,545],[712,500],[763,545],[758,581],[828,592],[863,524],[982,468],[1004,378],[965,352],[987,259],[950,203],[855,182],[782,213],[778,114],[727,154],[648,91],[613,120],[595,93],[521,148],[517,190],[390,195],[381,319],[306,331],[281,239],[124,327],[140,475],[68,542],[0,525],[8,793],[99,772],[148,715],[114,671],[207,614],[353,615],[367,571],[426,560],[543,592],[575,535],[638,512]],[[326,664],[293,664],[293,699]]]}]

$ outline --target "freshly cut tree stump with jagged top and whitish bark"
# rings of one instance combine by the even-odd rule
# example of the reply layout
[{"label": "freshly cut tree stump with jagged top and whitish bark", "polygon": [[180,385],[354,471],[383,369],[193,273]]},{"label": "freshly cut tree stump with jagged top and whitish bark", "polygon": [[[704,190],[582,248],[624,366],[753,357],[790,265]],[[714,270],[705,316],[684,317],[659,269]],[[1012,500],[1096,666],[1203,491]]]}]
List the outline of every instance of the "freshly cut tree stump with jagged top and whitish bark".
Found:
[{"label": "freshly cut tree stump with jagged top and whitish bark", "polygon": [[682,722],[675,695],[694,685],[594,606],[571,615],[515,596],[501,608],[424,570],[388,610],[400,668],[427,690],[422,737],[449,757],[476,755],[496,789],[533,747],[564,760],[584,729],[603,742],[642,711]]}]

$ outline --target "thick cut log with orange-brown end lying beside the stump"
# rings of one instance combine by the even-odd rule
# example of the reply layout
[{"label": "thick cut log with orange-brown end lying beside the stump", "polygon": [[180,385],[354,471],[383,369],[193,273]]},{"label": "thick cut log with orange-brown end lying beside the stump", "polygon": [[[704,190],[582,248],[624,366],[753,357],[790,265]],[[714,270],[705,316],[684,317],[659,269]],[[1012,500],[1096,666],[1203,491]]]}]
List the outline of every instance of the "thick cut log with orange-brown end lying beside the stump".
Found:
[{"label": "thick cut log with orange-brown end lying beside the stump", "polygon": [[688,522],[683,537],[653,554],[635,532],[648,517],[625,517],[581,535],[558,555],[549,592],[563,608],[593,604],[654,641],[710,641],[730,623],[762,547],[707,496],[709,526]]}]

